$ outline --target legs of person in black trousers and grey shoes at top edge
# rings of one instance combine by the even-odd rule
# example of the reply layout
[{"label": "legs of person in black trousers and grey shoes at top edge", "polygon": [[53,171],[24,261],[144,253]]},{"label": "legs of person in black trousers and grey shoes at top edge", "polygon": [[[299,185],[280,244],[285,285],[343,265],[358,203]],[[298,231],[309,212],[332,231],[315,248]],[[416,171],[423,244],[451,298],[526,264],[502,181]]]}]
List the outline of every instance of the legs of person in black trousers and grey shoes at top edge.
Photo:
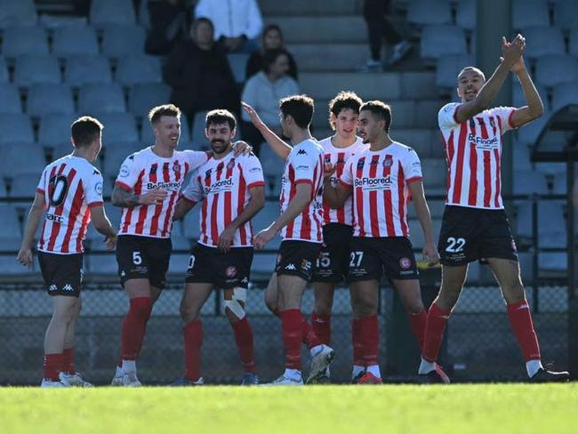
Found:
[{"label": "legs of person in black trousers and grey shoes at top edge", "polygon": [[387,64],[394,65],[402,60],[411,48],[412,44],[397,33],[396,28],[391,24],[386,14],[389,12],[389,0],[365,0],[364,18],[367,23],[367,33],[369,37],[369,48],[371,59],[360,70],[364,72],[380,72],[383,70],[381,63],[381,44],[385,38],[386,44],[394,44],[393,53]]}]

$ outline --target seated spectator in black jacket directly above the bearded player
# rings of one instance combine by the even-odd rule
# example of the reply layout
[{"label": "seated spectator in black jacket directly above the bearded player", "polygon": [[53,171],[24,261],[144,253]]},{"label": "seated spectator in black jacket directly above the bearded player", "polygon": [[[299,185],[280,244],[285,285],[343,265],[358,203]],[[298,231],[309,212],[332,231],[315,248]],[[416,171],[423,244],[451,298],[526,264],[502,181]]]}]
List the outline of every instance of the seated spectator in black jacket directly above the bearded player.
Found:
[{"label": "seated spectator in black jacket directly above the bearded player", "polygon": [[240,109],[235,78],[225,53],[214,44],[213,32],[211,20],[195,20],[190,40],[174,48],[163,68],[165,82],[173,88],[171,102],[189,121],[198,111]]}]

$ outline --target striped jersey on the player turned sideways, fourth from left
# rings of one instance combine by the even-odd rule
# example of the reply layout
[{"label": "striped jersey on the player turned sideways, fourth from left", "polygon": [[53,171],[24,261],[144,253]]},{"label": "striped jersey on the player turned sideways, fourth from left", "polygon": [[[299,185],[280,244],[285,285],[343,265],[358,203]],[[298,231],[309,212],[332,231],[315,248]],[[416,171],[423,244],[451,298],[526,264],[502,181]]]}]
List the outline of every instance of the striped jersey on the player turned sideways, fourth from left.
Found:
[{"label": "striped jersey on the player turned sideways, fourth from left", "polygon": [[295,145],[285,161],[281,178],[281,213],[297,193],[297,184],[311,185],[309,205],[281,230],[283,239],[323,242],[323,148],[313,139]]}]

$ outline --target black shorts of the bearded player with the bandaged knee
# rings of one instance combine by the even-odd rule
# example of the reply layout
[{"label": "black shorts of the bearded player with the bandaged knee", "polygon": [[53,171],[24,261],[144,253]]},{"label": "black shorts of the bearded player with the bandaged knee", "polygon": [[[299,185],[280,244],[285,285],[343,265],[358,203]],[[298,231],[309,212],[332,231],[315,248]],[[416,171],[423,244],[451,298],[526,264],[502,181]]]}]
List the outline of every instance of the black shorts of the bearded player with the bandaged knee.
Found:
[{"label": "black shorts of the bearded player with the bandaged knee", "polygon": [[234,247],[222,253],[216,247],[197,243],[190,253],[185,281],[213,284],[217,288],[246,288],[251,277],[253,247]]}]

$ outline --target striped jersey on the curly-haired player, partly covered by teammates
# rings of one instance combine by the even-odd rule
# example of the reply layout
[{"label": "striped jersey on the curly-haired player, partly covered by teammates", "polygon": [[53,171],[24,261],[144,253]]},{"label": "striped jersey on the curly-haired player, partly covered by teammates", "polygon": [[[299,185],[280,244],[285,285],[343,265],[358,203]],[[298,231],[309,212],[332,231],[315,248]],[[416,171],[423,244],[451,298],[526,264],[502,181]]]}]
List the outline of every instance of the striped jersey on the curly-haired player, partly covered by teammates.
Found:
[{"label": "striped jersey on the curly-haired player, partly covered by teammates", "polygon": [[[343,167],[349,159],[349,157],[358,154],[365,149],[369,149],[369,145],[364,143],[360,137],[357,137],[356,141],[347,148],[335,148],[331,137],[319,141],[319,144],[323,147],[324,160],[325,163],[331,163],[335,165],[335,173],[331,175],[331,185],[335,187],[337,181],[343,173]],[[345,204],[339,209],[332,209],[329,205],[323,204],[323,224],[328,223],[341,223],[351,226],[353,224],[353,209],[351,208],[351,197],[348,197]]]}]

